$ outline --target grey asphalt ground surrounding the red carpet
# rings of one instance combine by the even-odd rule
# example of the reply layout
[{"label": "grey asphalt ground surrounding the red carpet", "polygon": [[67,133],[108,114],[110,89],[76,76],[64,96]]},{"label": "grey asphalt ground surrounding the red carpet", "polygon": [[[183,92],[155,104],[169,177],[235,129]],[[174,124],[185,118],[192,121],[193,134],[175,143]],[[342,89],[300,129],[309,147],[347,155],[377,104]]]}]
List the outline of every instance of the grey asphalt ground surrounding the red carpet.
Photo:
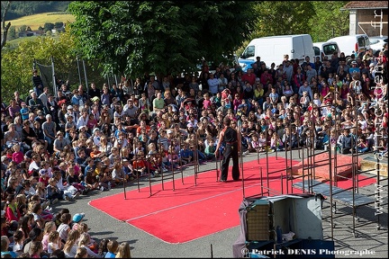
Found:
[{"label": "grey asphalt ground surrounding the red carpet", "polygon": [[[300,151],[302,152],[302,151]],[[288,157],[295,160],[301,160],[302,153],[294,150],[292,154],[288,152]],[[268,153],[268,156],[285,156],[285,152]],[[260,157],[265,157],[262,154]],[[363,156],[362,156],[363,157]],[[250,153],[243,157],[244,162],[257,159],[257,153]],[[232,161],[231,161],[232,162]],[[386,160],[387,163],[387,160]],[[207,163],[199,165],[199,174],[208,170],[215,169],[215,163]],[[285,166],[285,165],[281,165]],[[244,167],[243,167],[244,170]],[[184,177],[195,174],[194,166],[187,167],[184,170]],[[181,176],[181,174],[176,173]],[[366,174],[371,176],[372,174]],[[179,177],[175,176],[175,178]],[[229,172],[231,179],[231,172]],[[153,184],[160,182],[160,177],[153,178]],[[167,178],[165,178],[167,181]],[[387,206],[387,180],[381,180],[384,185],[381,196],[381,211],[379,218],[375,216],[375,204],[368,204],[357,208],[357,219],[355,220],[355,228],[353,227],[352,207],[346,206],[340,202],[336,203],[336,211],[330,206],[330,199],[323,203],[322,212],[322,227],[324,240],[333,240],[335,244],[336,258],[387,258],[388,257],[388,206]],[[228,184],[228,183],[220,183]],[[140,180],[140,187],[149,186],[148,178]],[[137,184],[128,183],[126,191],[137,189]],[[375,184],[359,188],[359,193],[375,196],[377,187]],[[97,241],[108,238],[116,239],[119,243],[129,242],[131,245],[131,257],[140,258],[231,258],[232,244],[240,235],[240,226],[223,230],[213,235],[201,237],[183,244],[167,244],[157,237],[150,236],[139,228],[135,228],[128,223],[113,219],[110,215],[96,210],[88,204],[100,197],[123,193],[122,187],[115,187],[108,192],[89,192],[87,195],[81,195],[77,201],[60,201],[53,207],[54,212],[62,208],[68,208],[70,213],[84,212],[86,217],[84,221],[90,228],[89,233]],[[259,193],[258,193],[259,194]],[[243,199],[243,192],[242,192]],[[124,201],[124,195],[123,195]],[[130,205],[131,206],[131,205]],[[237,205],[239,206],[239,205]],[[332,206],[333,209],[333,206]],[[238,214],[238,211],[237,211]],[[332,214],[332,216],[331,216]],[[331,220],[332,219],[332,220]],[[379,224],[378,224],[379,219]],[[225,219],[221,219],[225,220]],[[332,222],[332,225],[331,225]],[[333,226],[334,228],[331,228]],[[377,229],[379,226],[379,229]],[[355,230],[355,231],[354,231]]]}]

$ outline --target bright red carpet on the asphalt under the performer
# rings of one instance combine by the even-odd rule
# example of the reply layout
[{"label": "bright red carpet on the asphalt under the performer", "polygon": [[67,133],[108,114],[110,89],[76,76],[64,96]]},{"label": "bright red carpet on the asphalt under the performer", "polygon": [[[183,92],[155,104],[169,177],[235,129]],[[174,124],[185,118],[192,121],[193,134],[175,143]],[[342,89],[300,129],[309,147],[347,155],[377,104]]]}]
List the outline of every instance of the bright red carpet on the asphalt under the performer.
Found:
[{"label": "bright red carpet on the asphalt under the performer", "polygon": [[[288,160],[289,166],[290,163]],[[292,165],[296,163],[298,161],[292,161]],[[268,157],[268,172],[275,172],[268,175],[272,191],[266,193],[267,163],[266,158],[262,158],[259,165],[257,160],[244,164],[245,197],[261,193],[259,177],[261,166],[264,196],[281,194],[280,175],[285,175],[285,170],[275,171],[285,168],[285,158]],[[151,186],[150,196],[149,183],[142,182],[145,187],[141,187],[140,192],[137,189],[126,192],[126,200],[124,194],[119,193],[90,201],[90,205],[115,219],[126,221],[154,237],[173,244],[188,242],[240,225],[238,209],[243,199],[242,182],[216,182],[216,170],[198,174],[196,186],[195,176],[185,177],[184,184],[180,176],[181,174],[175,174],[175,191],[172,181],[164,183],[164,190],[162,184],[158,183]],[[283,182],[285,194],[286,180]],[[289,187],[289,192],[290,189]],[[301,193],[296,189],[293,192]]]}]

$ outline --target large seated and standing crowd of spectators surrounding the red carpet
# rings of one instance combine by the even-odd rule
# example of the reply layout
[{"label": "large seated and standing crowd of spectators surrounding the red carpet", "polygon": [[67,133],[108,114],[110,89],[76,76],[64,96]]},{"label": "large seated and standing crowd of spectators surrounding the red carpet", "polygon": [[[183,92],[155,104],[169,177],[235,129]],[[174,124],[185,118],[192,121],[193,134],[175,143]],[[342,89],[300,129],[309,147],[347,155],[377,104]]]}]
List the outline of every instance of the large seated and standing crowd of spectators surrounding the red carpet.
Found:
[{"label": "large seated and standing crowd of spectators surrounding the red carpet", "polygon": [[67,82],[57,94],[34,70],[26,100],[14,92],[1,107],[2,257],[129,257],[127,243],[97,244],[84,214],[52,205],[215,159],[226,116],[243,155],[312,147],[387,156],[387,58],[385,44],[379,57],[334,53],[301,65],[258,57],[247,72],[211,73],[204,62],[199,76]]}]

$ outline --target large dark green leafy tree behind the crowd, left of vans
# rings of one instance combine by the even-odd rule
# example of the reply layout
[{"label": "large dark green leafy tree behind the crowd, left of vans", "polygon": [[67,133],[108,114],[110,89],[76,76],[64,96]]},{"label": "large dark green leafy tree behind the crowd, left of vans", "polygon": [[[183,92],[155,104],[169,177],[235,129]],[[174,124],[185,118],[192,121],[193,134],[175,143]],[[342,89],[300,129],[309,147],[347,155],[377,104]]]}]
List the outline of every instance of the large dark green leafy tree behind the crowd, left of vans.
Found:
[{"label": "large dark green leafy tree behind the crowd, left of vans", "polygon": [[[244,4],[244,8],[242,8]],[[231,54],[250,33],[252,2],[72,2],[77,47],[104,72],[139,76],[195,71],[200,58]]]}]

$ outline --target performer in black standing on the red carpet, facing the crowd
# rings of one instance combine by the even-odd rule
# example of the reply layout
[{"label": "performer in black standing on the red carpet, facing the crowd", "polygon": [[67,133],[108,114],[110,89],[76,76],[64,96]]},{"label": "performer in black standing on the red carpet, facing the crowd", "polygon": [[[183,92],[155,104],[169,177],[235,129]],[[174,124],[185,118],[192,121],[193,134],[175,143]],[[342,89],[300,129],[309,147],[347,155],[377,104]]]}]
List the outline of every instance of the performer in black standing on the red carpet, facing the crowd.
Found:
[{"label": "performer in black standing on the red carpet, facing the crowd", "polygon": [[240,171],[239,171],[239,152],[240,152],[240,134],[236,129],[231,128],[231,119],[225,117],[223,120],[224,129],[222,129],[219,141],[216,146],[216,151],[214,155],[217,157],[219,147],[222,145],[222,141],[225,142],[225,149],[223,153],[223,160],[221,165],[222,175],[220,182],[226,182],[228,176],[228,168],[230,164],[230,157],[232,156],[232,179],[234,181],[240,180]]}]

